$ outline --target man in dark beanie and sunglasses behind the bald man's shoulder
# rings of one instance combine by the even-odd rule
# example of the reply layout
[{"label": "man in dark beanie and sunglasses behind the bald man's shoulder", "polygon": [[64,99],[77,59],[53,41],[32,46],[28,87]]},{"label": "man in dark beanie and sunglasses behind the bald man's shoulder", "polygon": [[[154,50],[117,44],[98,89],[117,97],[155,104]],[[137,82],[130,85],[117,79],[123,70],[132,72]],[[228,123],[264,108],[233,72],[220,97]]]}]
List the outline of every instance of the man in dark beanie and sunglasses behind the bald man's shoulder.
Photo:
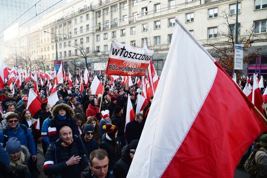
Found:
[{"label": "man in dark beanie and sunglasses behind the bald man's shoulder", "polygon": [[94,125],[92,124],[84,125],[82,139],[86,150],[86,158],[87,158],[86,159],[87,161],[85,161],[86,166],[89,163],[89,156],[91,152],[99,148],[98,142],[93,138],[94,131],[95,131]]}]

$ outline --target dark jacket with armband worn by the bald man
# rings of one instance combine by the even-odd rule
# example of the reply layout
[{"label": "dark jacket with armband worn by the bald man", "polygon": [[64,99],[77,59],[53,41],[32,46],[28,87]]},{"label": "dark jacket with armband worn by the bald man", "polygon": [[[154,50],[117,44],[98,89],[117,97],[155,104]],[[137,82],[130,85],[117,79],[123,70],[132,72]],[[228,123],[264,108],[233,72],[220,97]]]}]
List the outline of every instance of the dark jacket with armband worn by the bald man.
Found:
[{"label": "dark jacket with armband worn by the bald man", "polygon": [[[61,178],[81,178],[82,160],[78,164],[67,166],[66,161],[72,156],[81,156],[76,142],[64,148],[56,146],[53,142],[49,145],[45,156],[45,175],[61,175]],[[46,161],[54,163],[46,167]]]}]

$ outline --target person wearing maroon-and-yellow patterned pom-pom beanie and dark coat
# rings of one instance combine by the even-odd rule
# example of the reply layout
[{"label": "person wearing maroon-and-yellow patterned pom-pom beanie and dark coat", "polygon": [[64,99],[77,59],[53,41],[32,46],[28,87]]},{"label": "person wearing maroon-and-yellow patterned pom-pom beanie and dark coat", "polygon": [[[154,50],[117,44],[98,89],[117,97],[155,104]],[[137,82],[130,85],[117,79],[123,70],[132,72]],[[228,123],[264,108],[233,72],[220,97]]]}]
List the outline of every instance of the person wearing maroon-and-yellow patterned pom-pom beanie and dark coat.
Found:
[{"label": "person wearing maroon-and-yellow patterned pom-pom beanie and dark coat", "polygon": [[108,170],[112,174],[114,165],[120,159],[121,155],[120,143],[117,140],[118,127],[116,125],[106,124],[103,125],[102,128],[106,133],[102,137],[100,148],[104,149],[108,153]]}]

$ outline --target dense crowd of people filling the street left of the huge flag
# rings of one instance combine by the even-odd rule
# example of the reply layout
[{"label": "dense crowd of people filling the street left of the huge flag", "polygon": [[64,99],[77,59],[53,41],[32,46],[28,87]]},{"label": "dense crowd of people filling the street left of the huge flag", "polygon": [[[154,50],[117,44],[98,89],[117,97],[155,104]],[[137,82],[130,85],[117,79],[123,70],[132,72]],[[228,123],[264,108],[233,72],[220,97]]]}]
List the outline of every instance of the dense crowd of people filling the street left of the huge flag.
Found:
[{"label": "dense crowd of people filling the street left of the huge flag", "polygon": [[[126,178],[153,98],[126,124],[128,94],[135,110],[141,89],[121,85],[120,79],[113,86],[108,77],[105,82],[98,95],[90,84],[83,93],[79,85],[58,84],[59,101],[43,102],[34,115],[27,109],[33,82],[15,93],[8,86],[0,89],[0,177],[37,178],[36,154],[42,151],[50,177]],[[50,95],[46,86],[39,86],[39,94],[42,101]]]}]

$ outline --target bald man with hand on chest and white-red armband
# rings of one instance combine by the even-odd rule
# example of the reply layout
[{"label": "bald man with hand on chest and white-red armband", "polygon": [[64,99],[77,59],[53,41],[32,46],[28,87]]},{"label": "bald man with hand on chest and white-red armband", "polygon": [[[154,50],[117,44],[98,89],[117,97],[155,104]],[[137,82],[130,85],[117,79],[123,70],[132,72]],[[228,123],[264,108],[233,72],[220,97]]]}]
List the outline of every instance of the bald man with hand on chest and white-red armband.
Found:
[{"label": "bald man with hand on chest and white-red armband", "polygon": [[72,139],[72,130],[63,126],[59,130],[59,138],[67,147],[50,144],[44,162],[45,175],[61,178],[81,178],[82,161],[77,143]]}]

